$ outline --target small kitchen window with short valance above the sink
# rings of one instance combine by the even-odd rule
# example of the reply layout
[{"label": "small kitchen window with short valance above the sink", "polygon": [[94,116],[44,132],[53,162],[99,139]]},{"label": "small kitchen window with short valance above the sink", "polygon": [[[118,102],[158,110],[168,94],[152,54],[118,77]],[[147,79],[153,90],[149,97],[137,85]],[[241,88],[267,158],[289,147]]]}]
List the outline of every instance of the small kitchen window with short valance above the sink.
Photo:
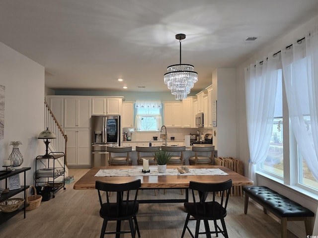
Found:
[{"label": "small kitchen window with short valance above the sink", "polygon": [[137,131],[159,131],[162,126],[160,101],[136,101],[135,128]]}]

